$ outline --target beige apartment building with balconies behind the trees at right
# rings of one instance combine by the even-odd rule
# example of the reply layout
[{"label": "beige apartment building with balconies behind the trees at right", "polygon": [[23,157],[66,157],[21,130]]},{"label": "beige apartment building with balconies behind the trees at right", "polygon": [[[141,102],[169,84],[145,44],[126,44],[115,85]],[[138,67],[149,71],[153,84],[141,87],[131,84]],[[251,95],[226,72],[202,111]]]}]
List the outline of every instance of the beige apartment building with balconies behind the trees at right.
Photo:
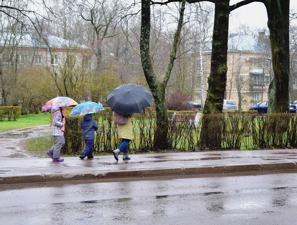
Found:
[{"label": "beige apartment building with balconies behind the trees at right", "polygon": [[[205,45],[203,63],[198,68],[196,101],[205,101],[210,73],[211,43]],[[193,57],[193,56],[192,56]],[[200,56],[195,56],[201,65]],[[265,31],[258,36],[231,34],[228,39],[227,86],[225,99],[235,100],[241,110],[267,100],[268,88],[273,77],[270,40]],[[204,102],[202,102],[202,105]]]}]

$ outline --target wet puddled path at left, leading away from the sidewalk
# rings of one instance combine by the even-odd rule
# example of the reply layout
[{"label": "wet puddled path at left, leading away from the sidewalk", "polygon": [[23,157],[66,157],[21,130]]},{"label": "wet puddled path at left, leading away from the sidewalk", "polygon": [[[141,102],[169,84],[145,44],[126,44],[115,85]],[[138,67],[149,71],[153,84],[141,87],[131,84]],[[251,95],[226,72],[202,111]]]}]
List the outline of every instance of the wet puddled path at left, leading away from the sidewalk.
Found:
[{"label": "wet puddled path at left, leading away from the sidewalk", "polygon": [[32,137],[50,134],[50,126],[39,126],[0,133],[0,158],[36,158],[46,157],[44,153],[29,153],[24,149],[26,140]]}]

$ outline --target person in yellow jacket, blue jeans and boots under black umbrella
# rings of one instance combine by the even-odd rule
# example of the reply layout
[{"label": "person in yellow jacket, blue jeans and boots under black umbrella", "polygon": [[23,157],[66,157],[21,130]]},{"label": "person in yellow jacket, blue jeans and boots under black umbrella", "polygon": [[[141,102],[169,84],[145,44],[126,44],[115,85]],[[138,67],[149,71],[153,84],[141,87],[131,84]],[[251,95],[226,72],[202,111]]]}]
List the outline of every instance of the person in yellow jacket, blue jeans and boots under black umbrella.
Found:
[{"label": "person in yellow jacket, blue jeans and boots under black umbrella", "polygon": [[133,124],[132,124],[132,121],[131,121],[131,117],[133,117],[133,116],[134,116],[134,114],[126,115],[127,123],[122,124],[122,125],[119,125],[119,124],[116,125],[117,132],[118,132],[118,137],[122,138],[122,142],[119,145],[119,147],[112,151],[116,161],[119,160],[119,154],[121,152],[124,153],[123,160],[131,159],[128,156],[128,144],[133,139]]}]

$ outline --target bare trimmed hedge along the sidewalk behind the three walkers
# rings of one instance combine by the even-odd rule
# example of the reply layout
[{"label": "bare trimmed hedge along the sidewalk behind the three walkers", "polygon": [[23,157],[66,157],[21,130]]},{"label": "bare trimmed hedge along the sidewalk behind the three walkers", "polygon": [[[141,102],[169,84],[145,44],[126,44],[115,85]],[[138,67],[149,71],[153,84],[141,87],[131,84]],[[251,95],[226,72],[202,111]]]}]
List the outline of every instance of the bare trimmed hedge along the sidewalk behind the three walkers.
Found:
[{"label": "bare trimmed hedge along the sidewalk behind the three walkers", "polygon": [[[182,151],[207,150],[207,143],[217,141],[218,149],[267,149],[297,147],[297,118],[294,114],[254,114],[228,112],[203,115],[208,126],[201,129],[201,119],[195,121],[194,111],[168,111],[169,127],[167,144],[169,148]],[[109,108],[94,114],[99,130],[94,142],[94,153],[109,152],[118,147],[120,139],[113,124]],[[202,114],[201,114],[202,115]],[[155,111],[146,110],[132,118],[134,139],[130,149],[148,151],[153,149]],[[80,117],[66,116],[64,154],[77,154],[84,147]],[[218,129],[220,127],[220,129]],[[208,140],[200,140],[201,133],[208,132]],[[205,138],[205,137],[204,137]],[[201,143],[206,143],[202,146]]]}]

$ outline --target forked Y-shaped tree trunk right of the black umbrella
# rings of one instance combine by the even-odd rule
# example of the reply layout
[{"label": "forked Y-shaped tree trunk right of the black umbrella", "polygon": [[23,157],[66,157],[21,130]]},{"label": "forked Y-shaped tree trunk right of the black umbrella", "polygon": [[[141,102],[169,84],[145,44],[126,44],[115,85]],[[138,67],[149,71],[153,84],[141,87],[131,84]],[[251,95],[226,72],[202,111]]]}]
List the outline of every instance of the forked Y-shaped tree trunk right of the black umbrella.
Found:
[{"label": "forked Y-shaped tree trunk right of the black umbrella", "polygon": [[153,95],[155,108],[156,108],[156,128],[154,134],[154,148],[166,149],[167,148],[167,133],[168,133],[168,113],[165,101],[165,90],[168,80],[171,75],[173,63],[176,56],[177,45],[180,38],[180,33],[183,25],[184,10],[186,0],[182,1],[180,11],[180,18],[178,27],[174,36],[172,51],[170,54],[169,64],[164,76],[163,82],[160,83],[154,74],[151,63],[150,50],[149,50],[149,37],[150,37],[150,0],[142,0],[142,15],[141,15],[141,33],[140,33],[140,54],[141,62],[144,70],[149,89]]}]

